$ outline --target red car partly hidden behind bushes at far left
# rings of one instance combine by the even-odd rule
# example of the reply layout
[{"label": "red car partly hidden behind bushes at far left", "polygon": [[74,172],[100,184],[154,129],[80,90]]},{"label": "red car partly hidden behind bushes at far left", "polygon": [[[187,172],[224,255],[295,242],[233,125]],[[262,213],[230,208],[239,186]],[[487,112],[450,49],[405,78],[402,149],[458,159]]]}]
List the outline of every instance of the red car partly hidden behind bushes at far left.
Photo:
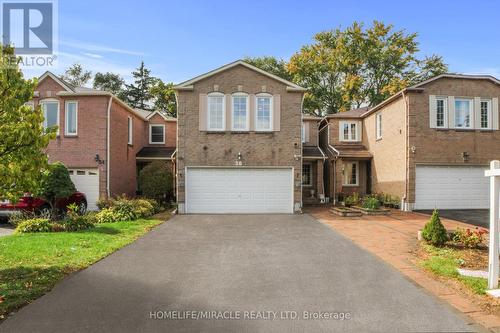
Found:
[{"label": "red car partly hidden behind bushes at far left", "polygon": [[[59,211],[66,211],[66,207],[70,204],[76,204],[79,211],[84,213],[87,210],[87,198],[81,192],[75,192],[71,196],[59,199],[56,203]],[[0,217],[9,217],[14,212],[27,211],[36,214],[46,214],[50,212],[50,204],[43,199],[35,198],[30,195],[25,195],[15,204],[7,201],[0,201]]]}]

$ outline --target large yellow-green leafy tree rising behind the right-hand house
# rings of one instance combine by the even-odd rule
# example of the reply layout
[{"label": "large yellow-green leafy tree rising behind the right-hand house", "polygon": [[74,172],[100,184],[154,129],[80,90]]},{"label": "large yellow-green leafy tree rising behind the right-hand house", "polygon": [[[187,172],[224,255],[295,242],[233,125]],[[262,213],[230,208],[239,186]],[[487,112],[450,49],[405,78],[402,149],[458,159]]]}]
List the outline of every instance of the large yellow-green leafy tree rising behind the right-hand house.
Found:
[{"label": "large yellow-green leafy tree rising behind the right-hand house", "polygon": [[417,57],[417,34],[394,31],[374,21],[367,29],[353,23],[345,30],[320,32],[315,42],[295,53],[288,70],[309,88],[308,110],[336,113],[374,106],[391,94],[447,71],[439,56]]}]

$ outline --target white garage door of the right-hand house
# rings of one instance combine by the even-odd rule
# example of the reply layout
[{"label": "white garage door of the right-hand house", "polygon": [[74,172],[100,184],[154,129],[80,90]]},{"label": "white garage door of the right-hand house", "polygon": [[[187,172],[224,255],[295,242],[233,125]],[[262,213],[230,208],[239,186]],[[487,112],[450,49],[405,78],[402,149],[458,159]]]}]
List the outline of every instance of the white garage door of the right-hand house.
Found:
[{"label": "white garage door of the right-hand house", "polygon": [[487,167],[417,166],[415,209],[489,207]]}]

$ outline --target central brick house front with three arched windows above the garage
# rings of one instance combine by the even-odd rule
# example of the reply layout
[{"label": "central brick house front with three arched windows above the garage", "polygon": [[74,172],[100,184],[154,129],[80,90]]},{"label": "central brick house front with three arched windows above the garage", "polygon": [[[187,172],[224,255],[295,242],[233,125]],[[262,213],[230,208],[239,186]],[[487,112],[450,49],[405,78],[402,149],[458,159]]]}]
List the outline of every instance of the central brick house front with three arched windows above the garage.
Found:
[{"label": "central brick house front with three arched windows above the garage", "polygon": [[300,210],[304,88],[236,61],[175,90],[179,213]]}]

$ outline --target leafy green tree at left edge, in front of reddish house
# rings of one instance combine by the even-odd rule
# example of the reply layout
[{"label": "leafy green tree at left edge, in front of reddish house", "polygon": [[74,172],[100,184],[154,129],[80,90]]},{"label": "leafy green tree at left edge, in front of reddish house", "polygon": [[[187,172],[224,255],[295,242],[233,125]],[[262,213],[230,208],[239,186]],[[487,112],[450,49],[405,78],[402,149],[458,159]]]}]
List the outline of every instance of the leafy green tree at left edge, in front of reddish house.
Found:
[{"label": "leafy green tree at left edge, in front of reddish house", "polygon": [[16,201],[40,189],[56,128],[44,129],[41,108],[27,104],[37,82],[23,78],[14,49],[0,45],[0,55],[0,198]]}]

